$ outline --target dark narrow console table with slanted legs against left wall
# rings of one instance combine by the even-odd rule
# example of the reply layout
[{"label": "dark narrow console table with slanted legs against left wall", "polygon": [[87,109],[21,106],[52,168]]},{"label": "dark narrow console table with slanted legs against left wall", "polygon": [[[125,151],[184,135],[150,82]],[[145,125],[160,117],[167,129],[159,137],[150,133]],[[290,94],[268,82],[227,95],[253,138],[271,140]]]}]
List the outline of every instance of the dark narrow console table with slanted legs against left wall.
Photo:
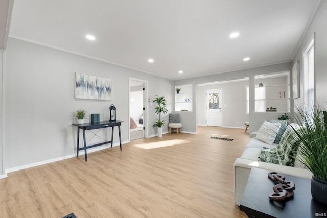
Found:
[{"label": "dark narrow console table with slanted legs against left wall", "polygon": [[[102,121],[102,122],[99,122],[99,123],[74,124],[75,126],[77,126],[77,156],[78,156],[78,151],[84,150],[84,152],[85,152],[85,161],[87,161],[86,149],[96,147],[96,146],[102,146],[103,144],[109,144],[109,143],[111,143],[111,147],[112,147],[112,143],[113,143],[113,127],[118,127],[119,143],[120,143],[120,147],[121,147],[121,150],[122,150],[122,138],[121,138],[121,125],[122,125],[122,122],[124,122],[124,121],[116,120],[116,121]],[[98,144],[92,144],[90,146],[86,146],[85,130],[94,130],[94,129],[108,128],[108,127],[111,127],[111,141],[105,141],[105,142],[101,142],[101,143],[98,143]],[[84,147],[83,148],[79,148],[80,129],[83,130],[83,140],[84,140]]]}]

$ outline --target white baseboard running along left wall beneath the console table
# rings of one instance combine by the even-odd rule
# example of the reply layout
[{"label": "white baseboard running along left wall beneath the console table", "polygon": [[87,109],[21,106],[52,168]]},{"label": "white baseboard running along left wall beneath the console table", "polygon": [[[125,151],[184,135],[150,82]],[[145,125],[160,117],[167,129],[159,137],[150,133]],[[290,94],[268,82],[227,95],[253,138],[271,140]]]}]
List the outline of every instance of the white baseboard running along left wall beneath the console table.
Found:
[{"label": "white baseboard running along left wall beneath the console table", "polygon": [[[122,141],[122,144],[125,144],[125,143],[128,143],[128,141]],[[115,147],[115,146],[119,146],[119,143],[114,143],[112,145],[112,147]],[[103,149],[107,149],[107,148],[110,148],[110,147],[111,147],[111,144],[108,144],[108,145],[105,145],[105,146],[89,148],[89,149],[87,149],[87,154],[92,153],[92,152],[96,152],[96,151],[100,151],[100,150],[103,150]],[[79,152],[79,156],[82,156],[82,155],[84,155],[84,151],[81,150]],[[72,157],[76,157],[76,151],[75,151],[74,154],[70,154],[70,155],[66,155],[66,156],[62,156],[62,157],[57,157],[57,158],[53,158],[53,159],[49,159],[49,160],[43,160],[43,161],[39,161],[39,162],[35,162],[35,163],[30,163],[30,164],[16,166],[16,167],[6,169],[6,174],[5,175],[7,175],[7,173],[20,171],[21,169],[27,169],[27,168],[31,168],[31,167],[34,167],[34,166],[39,166],[39,165],[43,165],[43,164],[47,164],[47,163],[52,163],[52,162],[56,162],[56,161],[59,161],[59,160],[65,160],[65,159],[72,158]],[[7,177],[7,176],[5,176],[5,177]],[[5,177],[3,177],[3,178],[5,178]],[[2,179],[2,175],[0,175],[0,179]]]}]

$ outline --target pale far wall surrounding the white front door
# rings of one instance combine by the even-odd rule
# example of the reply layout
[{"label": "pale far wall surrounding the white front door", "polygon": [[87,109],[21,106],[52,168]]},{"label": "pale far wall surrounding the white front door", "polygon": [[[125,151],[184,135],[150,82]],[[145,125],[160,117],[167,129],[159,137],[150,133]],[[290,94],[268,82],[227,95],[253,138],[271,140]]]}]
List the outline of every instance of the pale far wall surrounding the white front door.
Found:
[{"label": "pale far wall surrounding the white front door", "polygon": [[246,86],[248,81],[228,82],[223,84],[210,83],[197,87],[198,125],[206,125],[206,90],[223,90],[223,127],[245,128],[244,122],[249,121],[246,114]]}]

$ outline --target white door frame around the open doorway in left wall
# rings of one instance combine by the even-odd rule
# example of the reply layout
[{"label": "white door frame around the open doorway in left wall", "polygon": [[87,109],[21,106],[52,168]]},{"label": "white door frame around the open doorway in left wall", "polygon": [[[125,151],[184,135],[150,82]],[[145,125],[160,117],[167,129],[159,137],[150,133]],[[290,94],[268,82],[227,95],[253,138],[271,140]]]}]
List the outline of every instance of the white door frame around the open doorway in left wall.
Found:
[{"label": "white door frame around the open doorway in left wall", "polygon": [[[143,107],[145,108],[143,111],[143,127],[145,127],[144,130],[144,137],[145,138],[149,138],[149,125],[148,125],[148,108],[149,108],[149,103],[148,103],[148,98],[149,98],[149,94],[148,94],[148,81],[147,80],[141,80],[141,79],[137,79],[137,78],[132,78],[129,77],[128,78],[128,116],[130,117],[131,111],[130,111],[130,81],[137,81],[137,82],[142,82],[143,83],[143,87],[144,87],[144,91],[143,91]],[[128,118],[128,127],[130,127],[130,119]],[[130,131],[128,129],[128,141],[131,141],[131,135],[130,135]]]}]

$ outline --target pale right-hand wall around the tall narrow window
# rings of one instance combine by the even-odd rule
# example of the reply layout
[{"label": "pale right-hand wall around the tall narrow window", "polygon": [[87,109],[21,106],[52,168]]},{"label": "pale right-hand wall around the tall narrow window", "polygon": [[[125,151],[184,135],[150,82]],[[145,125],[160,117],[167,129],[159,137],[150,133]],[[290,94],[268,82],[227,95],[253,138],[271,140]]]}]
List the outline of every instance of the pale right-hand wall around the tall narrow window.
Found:
[{"label": "pale right-hand wall around the tall narrow window", "polygon": [[296,52],[294,61],[300,61],[300,98],[294,100],[294,104],[303,104],[303,50],[310,38],[315,35],[315,96],[316,101],[327,107],[327,1],[321,1],[312,22],[303,36],[303,40]]}]

